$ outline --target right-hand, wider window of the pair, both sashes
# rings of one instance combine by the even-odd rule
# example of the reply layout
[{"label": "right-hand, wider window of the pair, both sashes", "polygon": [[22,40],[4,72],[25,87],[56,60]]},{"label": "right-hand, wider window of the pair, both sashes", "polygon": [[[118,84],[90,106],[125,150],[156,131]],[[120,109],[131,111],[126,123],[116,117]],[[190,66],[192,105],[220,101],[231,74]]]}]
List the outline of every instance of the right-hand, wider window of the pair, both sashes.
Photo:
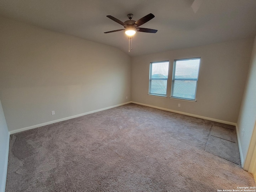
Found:
[{"label": "right-hand, wider window of the pair, both sashes", "polygon": [[196,100],[200,58],[174,60],[171,98]]}]

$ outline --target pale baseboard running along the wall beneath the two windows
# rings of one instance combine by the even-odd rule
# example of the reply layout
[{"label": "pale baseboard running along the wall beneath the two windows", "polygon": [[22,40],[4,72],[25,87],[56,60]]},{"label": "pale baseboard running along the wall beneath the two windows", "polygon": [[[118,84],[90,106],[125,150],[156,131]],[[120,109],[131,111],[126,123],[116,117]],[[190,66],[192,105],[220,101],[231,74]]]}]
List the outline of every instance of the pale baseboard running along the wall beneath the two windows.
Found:
[{"label": "pale baseboard running along the wall beneath the two windows", "polygon": [[144,103],[138,103],[138,102],[134,102],[134,101],[132,101],[131,103],[138,104],[138,105],[143,105],[143,106],[148,106],[148,107],[152,107],[152,108],[156,108],[156,109],[161,109],[161,110],[165,110],[165,111],[170,111],[170,112],[174,112],[174,113],[178,113],[178,114],[188,115],[188,116],[192,116],[192,117],[197,117],[197,118],[201,118],[201,119],[206,119],[206,120],[210,120],[210,121],[215,121],[215,122],[219,122],[219,123],[224,123],[224,124],[228,124],[228,125],[234,125],[234,126],[236,126],[236,123],[233,123],[233,122],[228,122],[228,121],[223,121],[223,120],[219,120],[219,119],[204,117],[204,116],[200,116],[200,115],[195,115],[195,114],[180,112],[180,111],[176,111],[176,110],[166,109],[166,108],[157,107],[157,106],[153,106],[153,105],[148,105],[148,104],[144,104]]}]

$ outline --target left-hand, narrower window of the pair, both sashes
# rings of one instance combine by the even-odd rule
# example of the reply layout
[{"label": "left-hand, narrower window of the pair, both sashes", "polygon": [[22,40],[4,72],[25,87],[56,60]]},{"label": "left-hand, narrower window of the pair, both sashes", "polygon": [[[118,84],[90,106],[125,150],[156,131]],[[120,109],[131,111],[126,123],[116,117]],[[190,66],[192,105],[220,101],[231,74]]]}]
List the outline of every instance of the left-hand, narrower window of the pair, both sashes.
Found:
[{"label": "left-hand, narrower window of the pair, both sashes", "polygon": [[150,63],[149,94],[166,96],[169,61]]}]

